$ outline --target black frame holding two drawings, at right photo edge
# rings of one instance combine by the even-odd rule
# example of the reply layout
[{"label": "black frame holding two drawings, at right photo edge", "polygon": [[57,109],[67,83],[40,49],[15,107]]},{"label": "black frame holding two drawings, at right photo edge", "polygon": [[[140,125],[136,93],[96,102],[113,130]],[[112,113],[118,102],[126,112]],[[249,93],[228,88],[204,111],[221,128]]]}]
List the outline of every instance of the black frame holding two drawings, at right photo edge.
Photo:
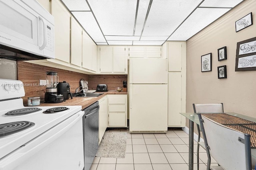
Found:
[{"label": "black frame holding two drawings, at right photo edge", "polygon": [[256,37],[240,41],[236,45],[235,71],[256,70]]}]

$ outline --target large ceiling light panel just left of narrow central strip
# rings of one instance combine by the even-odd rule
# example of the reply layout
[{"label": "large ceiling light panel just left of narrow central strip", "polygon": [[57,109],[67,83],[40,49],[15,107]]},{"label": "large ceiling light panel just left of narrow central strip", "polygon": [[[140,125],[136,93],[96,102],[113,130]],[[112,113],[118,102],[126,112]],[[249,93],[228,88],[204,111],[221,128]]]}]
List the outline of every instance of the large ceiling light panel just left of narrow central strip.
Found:
[{"label": "large ceiling light panel just left of narrow central strip", "polygon": [[133,35],[137,0],[88,0],[104,35]]}]

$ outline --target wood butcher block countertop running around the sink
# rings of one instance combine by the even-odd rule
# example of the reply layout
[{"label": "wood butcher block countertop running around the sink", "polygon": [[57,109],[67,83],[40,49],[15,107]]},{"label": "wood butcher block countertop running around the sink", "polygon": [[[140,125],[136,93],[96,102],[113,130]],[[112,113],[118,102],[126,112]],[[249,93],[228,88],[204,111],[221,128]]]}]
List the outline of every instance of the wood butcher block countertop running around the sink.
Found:
[{"label": "wood butcher block countertop running around the sink", "polygon": [[86,107],[90,106],[91,104],[94,104],[107,94],[127,94],[127,92],[117,92],[117,91],[108,91],[108,92],[96,92],[96,93],[103,93],[99,97],[93,97],[93,98],[84,98],[84,97],[73,97],[73,99],[68,99],[61,103],[40,103],[40,106],[82,106],[82,109],[85,109]]}]

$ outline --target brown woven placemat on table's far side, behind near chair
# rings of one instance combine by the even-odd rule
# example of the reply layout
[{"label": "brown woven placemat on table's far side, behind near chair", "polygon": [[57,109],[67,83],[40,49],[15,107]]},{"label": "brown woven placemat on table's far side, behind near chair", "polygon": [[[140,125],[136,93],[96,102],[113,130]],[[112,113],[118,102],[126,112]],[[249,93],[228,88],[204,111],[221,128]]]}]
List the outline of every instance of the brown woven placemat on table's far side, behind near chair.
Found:
[{"label": "brown woven placemat on table's far side, behind near chair", "polygon": [[239,117],[228,115],[226,113],[202,113],[201,115],[204,115],[205,117],[208,117],[209,119],[212,119],[213,121],[216,121],[222,125],[254,124],[254,122],[252,121],[248,121]]}]

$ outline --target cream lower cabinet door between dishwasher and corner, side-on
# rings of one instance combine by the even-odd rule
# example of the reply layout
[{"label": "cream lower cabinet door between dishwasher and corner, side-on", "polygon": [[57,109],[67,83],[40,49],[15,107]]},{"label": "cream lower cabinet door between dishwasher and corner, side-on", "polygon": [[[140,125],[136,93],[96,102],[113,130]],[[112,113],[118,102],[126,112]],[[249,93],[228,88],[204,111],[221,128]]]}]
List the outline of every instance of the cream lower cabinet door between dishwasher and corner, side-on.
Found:
[{"label": "cream lower cabinet door between dishwasher and corner, side-on", "polygon": [[108,98],[104,96],[99,100],[99,145],[108,126]]}]

